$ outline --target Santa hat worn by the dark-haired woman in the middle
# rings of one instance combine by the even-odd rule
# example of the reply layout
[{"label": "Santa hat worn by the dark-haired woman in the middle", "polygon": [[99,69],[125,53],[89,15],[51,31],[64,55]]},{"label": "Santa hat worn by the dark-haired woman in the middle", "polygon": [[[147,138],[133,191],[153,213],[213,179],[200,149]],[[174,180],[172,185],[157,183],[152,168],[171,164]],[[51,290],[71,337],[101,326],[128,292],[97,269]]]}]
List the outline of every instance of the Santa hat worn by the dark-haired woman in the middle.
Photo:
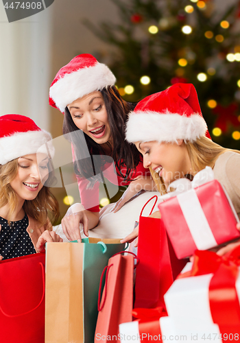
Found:
[{"label": "Santa hat worn by the dark-haired woman in the middle", "polygon": [[58,71],[49,91],[49,104],[62,113],[67,105],[79,97],[114,86],[115,75],[108,67],[97,62],[91,54],[73,58]]}]

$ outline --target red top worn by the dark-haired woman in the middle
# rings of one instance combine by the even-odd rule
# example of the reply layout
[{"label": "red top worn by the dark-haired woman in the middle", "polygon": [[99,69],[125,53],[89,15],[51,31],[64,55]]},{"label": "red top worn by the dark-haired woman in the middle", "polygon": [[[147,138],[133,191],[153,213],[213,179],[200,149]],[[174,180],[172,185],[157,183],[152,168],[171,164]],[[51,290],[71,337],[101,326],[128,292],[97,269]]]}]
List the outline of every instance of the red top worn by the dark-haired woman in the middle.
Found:
[{"label": "red top worn by the dark-haired woman in the middle", "polygon": [[[126,186],[130,184],[131,181],[126,182],[121,176],[118,176],[116,174],[116,171],[119,171],[116,164],[115,164],[115,167],[113,166],[113,163],[109,163],[108,165],[109,167],[103,171],[103,174],[104,174],[104,178],[110,181],[112,185]],[[124,176],[125,176],[125,171],[126,171],[126,168],[122,167],[121,173]],[[151,175],[149,169],[148,168],[146,169],[143,167],[142,157],[141,157],[141,161],[136,166],[135,172],[132,173],[131,178],[132,180],[134,180],[134,178],[141,175],[146,175],[146,176]],[[93,186],[93,188],[87,189],[89,180],[86,178],[81,178],[80,176],[77,176],[77,175],[76,177],[77,177],[78,189],[80,191],[82,205],[88,211],[99,212],[99,182],[95,182],[95,185]],[[112,187],[108,187],[108,185],[106,185],[106,187],[107,187],[110,198],[115,196],[117,194],[117,191],[119,190],[119,187],[112,188]]]}]

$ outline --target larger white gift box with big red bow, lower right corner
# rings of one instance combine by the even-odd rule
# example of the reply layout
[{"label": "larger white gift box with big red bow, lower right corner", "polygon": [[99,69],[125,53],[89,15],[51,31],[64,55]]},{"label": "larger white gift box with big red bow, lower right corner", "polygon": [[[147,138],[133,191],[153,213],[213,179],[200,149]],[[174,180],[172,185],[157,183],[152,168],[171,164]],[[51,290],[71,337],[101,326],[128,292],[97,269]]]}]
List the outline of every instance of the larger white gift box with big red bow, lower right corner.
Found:
[{"label": "larger white gift box with big red bow, lower right corner", "polygon": [[[180,274],[165,294],[176,331],[206,331],[209,327],[216,331],[217,324],[222,335],[240,333],[239,256],[240,246],[228,257],[195,252],[191,270]],[[164,331],[162,324],[161,329]]]}]

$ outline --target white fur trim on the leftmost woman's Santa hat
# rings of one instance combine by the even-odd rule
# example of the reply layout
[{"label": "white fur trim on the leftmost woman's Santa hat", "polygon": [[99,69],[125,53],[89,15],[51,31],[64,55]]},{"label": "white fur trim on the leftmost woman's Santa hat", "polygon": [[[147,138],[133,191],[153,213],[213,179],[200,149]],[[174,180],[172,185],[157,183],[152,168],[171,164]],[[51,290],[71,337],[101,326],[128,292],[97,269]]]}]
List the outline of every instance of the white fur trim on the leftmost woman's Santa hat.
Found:
[{"label": "white fur trim on the leftmost woman's Santa hat", "polygon": [[0,139],[0,165],[5,165],[9,161],[35,154],[38,148],[51,140],[51,134],[47,131],[16,132],[11,136]]}]

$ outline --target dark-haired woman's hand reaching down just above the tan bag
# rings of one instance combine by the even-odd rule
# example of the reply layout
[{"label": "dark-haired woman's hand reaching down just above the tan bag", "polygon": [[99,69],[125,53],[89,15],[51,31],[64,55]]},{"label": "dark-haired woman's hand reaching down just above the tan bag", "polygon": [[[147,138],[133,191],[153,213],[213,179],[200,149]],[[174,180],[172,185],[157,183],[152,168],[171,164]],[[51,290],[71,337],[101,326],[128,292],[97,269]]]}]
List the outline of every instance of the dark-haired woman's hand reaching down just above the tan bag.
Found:
[{"label": "dark-haired woman's hand reaching down just above the tan bag", "polygon": [[86,211],[75,212],[62,218],[62,230],[69,241],[81,242],[80,223],[84,226],[84,235],[88,236],[88,217]]}]

